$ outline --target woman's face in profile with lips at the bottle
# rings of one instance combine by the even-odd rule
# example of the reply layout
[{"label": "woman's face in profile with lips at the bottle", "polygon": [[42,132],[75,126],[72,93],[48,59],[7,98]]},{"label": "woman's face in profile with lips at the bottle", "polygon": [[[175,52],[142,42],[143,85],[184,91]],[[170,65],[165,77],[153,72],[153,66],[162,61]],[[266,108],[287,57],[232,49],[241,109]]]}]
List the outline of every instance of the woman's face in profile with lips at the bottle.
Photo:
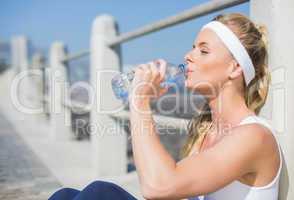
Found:
[{"label": "woman's face in profile with lips at the bottle", "polygon": [[228,80],[233,57],[220,38],[210,29],[203,29],[193,48],[185,55],[185,86],[201,94],[216,92]]}]

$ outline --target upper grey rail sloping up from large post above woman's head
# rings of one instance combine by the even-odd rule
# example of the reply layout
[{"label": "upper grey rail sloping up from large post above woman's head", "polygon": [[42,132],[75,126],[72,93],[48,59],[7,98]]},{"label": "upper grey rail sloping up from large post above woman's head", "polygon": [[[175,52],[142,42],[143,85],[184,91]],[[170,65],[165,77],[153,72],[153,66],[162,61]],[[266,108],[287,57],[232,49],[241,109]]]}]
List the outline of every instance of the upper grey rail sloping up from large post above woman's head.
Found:
[{"label": "upper grey rail sloping up from large post above woman's head", "polygon": [[135,31],[124,33],[113,41],[108,43],[109,46],[115,46],[117,44],[135,39],[137,37],[141,37],[143,35],[147,35],[149,33],[177,25],[182,22],[186,22],[188,20],[192,20],[197,17],[201,17],[207,14],[210,14],[215,11],[219,11],[228,7],[232,7],[235,5],[239,5],[245,3],[249,0],[222,0],[222,1],[209,1],[208,3],[201,4],[199,6],[195,6],[189,10],[181,12],[180,14],[168,17],[166,19],[160,20],[153,24],[149,24],[139,28]]}]

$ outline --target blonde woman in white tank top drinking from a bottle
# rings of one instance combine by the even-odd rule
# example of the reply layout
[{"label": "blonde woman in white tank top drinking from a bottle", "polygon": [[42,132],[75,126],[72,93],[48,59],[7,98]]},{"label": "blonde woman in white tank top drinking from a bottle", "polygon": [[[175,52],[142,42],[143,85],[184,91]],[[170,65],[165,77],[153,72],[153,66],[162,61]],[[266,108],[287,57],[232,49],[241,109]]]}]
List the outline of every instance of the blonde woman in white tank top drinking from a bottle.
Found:
[{"label": "blonde woman in white tank top drinking from a bottle", "polygon": [[202,28],[185,61],[185,86],[207,103],[191,120],[184,158],[177,163],[160,143],[150,109],[150,100],[167,91],[160,87],[166,63],[136,68],[130,122],[143,196],[278,199],[281,150],[271,126],[257,116],[270,82],[264,30],[241,14],[219,15]]}]

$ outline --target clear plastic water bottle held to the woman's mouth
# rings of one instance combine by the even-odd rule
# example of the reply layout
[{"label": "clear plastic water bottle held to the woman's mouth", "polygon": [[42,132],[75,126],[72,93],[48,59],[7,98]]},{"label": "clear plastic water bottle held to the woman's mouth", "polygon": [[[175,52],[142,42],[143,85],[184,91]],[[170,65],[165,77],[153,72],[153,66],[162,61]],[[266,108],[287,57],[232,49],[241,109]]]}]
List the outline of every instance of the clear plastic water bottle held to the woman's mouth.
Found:
[{"label": "clear plastic water bottle held to the woman's mouth", "polygon": [[[167,63],[164,81],[161,87],[183,87],[185,83],[186,64],[174,65]],[[129,88],[134,79],[135,71],[128,73],[120,73],[114,76],[111,80],[112,90],[116,98],[124,103],[128,101]]]}]

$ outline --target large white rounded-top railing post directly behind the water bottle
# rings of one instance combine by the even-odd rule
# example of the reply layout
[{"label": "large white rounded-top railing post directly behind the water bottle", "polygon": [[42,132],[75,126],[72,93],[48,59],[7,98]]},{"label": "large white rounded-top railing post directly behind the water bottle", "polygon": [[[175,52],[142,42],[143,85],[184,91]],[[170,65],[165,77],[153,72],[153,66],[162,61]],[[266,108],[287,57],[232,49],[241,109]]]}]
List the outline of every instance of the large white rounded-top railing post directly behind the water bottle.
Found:
[{"label": "large white rounded-top railing post directly behind the water bottle", "polygon": [[110,83],[114,72],[120,70],[120,46],[111,48],[107,45],[117,34],[118,26],[112,16],[103,15],[95,19],[90,41],[91,85],[96,96],[91,110],[91,143],[98,177],[125,174],[127,167],[126,133],[106,114],[121,106]]}]

